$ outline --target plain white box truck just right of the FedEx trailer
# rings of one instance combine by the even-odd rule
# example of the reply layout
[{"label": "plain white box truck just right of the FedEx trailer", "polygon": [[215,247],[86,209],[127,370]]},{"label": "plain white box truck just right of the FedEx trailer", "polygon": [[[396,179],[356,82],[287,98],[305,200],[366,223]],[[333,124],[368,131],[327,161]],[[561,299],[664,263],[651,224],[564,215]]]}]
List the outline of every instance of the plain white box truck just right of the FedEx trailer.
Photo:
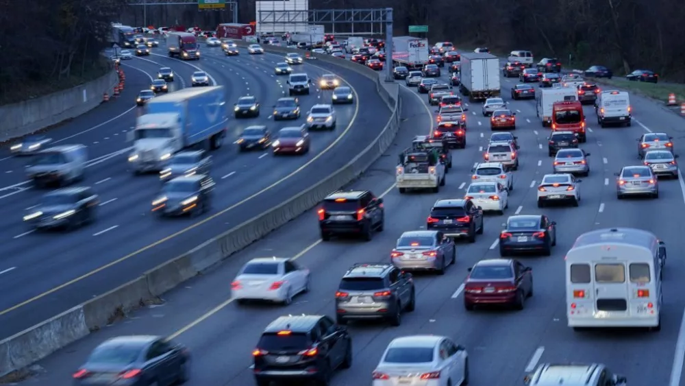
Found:
[{"label": "plain white box truck just right of the FedEx trailer", "polygon": [[461,58],[459,89],[469,101],[499,97],[499,58],[490,53],[466,52]]}]

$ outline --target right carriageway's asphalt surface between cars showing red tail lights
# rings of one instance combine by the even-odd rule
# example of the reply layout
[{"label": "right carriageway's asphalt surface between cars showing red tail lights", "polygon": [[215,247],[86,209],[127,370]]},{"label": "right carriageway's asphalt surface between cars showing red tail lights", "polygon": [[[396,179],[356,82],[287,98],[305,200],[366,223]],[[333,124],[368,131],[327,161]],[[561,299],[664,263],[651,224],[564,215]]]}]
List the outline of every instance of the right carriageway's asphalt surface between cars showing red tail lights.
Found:
[{"label": "right carriageway's asphalt surface between cars showing red tail lights", "polygon": [[[404,314],[399,327],[386,324],[351,324],[353,367],[335,374],[334,386],[370,385],[371,372],[389,341],[402,335],[429,333],[447,335],[469,352],[472,386],[522,385],[523,375],[538,363],[601,362],[613,372],[627,376],[630,385],[680,385],[685,337],[682,324],[685,285],[677,272],[685,264],[677,253],[685,248],[683,227],[667,218],[669,212],[685,210],[685,185],[681,180],[660,182],[658,200],[616,200],[614,172],[636,165],[636,141],[640,134],[664,130],[675,137],[675,147],[684,146],[682,119],[665,112],[651,101],[632,97],[634,124],[630,128],[601,129],[593,108],[586,108],[590,152],[590,176],[582,178],[579,207],[538,209],[535,187],[551,173],[547,156],[549,129],[536,120],[534,101],[512,101],[508,97],[516,80],[503,79],[503,97],[516,111],[521,167],[514,172],[514,191],[505,215],[488,215],[484,234],[476,243],[459,243],[457,263],[445,276],[416,275],[416,311]],[[83,363],[98,343],[118,335],[168,335],[184,343],[193,355],[192,380],[188,385],[253,385],[251,350],[263,328],[279,315],[319,313],[334,315],[334,293],[340,277],[353,263],[388,261],[399,235],[425,227],[425,219],[438,199],[460,198],[470,182],[470,170],[482,160],[490,136],[488,118],[480,105],[470,104],[466,149],[453,150],[454,167],[447,187],[440,193],[399,195],[393,187],[397,153],[412,136],[428,134],[434,108],[426,106],[426,95],[402,88],[403,127],[396,145],[373,165],[354,188],[384,195],[386,226],[373,241],[319,240],[315,211],[306,213],[262,241],[236,254],[216,271],[188,282],[166,297],[163,306],[144,309],[125,323],[90,335],[40,362],[36,381],[57,385],[69,381],[73,369]],[[414,95],[410,95],[414,94]],[[506,218],[515,213],[545,213],[558,223],[558,244],[549,257],[521,256],[533,269],[535,295],[523,311],[476,311],[466,313],[460,285],[466,269],[483,258],[497,258],[497,239]],[[662,330],[575,333],[566,326],[564,254],[582,232],[596,228],[625,226],[650,230],[667,243],[671,256],[664,275]],[[294,256],[312,272],[311,291],[295,298],[287,308],[277,305],[238,306],[230,299],[229,282],[249,259],[264,256]],[[249,323],[245,323],[249,320]],[[673,375],[672,375],[673,372]]]}]

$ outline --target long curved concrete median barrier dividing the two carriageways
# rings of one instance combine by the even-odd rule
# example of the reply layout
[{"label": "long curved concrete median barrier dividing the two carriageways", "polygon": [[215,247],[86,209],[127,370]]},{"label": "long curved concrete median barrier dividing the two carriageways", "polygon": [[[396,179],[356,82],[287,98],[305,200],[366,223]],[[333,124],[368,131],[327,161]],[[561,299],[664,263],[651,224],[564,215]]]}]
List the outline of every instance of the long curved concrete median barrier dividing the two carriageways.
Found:
[{"label": "long curved concrete median barrier dividing the two carriageways", "polygon": [[[284,50],[284,52],[290,51]],[[322,61],[328,60],[322,58]],[[17,372],[88,333],[94,333],[99,328],[116,322],[134,309],[161,302],[159,297],[166,291],[197,276],[305,213],[306,210],[319,204],[332,191],[358,178],[379,156],[382,156],[393,143],[399,130],[401,110],[399,85],[382,82],[375,71],[358,64],[345,63],[333,57],[330,58],[330,62],[353,68],[354,71],[376,82],[379,94],[390,106],[391,114],[388,123],[360,154],[325,180],[310,186],[279,206],[266,210],[261,215],[245,221],[219,237],[210,239],[189,252],[151,269],[135,280],[1,341],[0,377]]]}]

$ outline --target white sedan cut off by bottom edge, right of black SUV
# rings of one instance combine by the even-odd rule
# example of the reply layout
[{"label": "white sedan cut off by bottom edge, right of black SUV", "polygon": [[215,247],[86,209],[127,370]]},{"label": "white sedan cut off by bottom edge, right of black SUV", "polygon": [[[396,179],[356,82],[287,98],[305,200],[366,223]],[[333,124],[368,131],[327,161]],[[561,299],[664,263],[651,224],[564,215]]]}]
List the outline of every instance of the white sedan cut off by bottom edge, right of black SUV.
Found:
[{"label": "white sedan cut off by bottom edge, right of black SUV", "polygon": [[458,386],[469,383],[469,354],[448,337],[393,339],[373,371],[373,386]]}]

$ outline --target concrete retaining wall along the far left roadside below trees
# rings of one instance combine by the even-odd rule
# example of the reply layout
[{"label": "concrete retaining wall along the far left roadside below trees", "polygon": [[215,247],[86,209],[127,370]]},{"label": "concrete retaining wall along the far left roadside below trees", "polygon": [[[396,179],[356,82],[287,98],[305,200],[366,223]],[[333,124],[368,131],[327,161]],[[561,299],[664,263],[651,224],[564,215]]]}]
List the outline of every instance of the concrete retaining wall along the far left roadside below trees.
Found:
[{"label": "concrete retaining wall along the far left roadside below trees", "polygon": [[103,93],[112,95],[116,71],[92,82],[36,99],[0,106],[0,142],[31,134],[97,107]]}]

